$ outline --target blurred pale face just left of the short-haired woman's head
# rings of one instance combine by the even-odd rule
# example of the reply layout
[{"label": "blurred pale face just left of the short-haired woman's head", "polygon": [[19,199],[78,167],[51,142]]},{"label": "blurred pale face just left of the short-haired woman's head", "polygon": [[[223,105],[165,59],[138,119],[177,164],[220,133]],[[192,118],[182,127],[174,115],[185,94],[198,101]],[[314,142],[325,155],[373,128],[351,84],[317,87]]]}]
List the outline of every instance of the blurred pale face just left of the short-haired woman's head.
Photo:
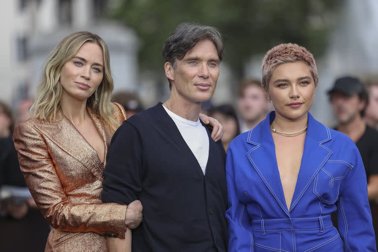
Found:
[{"label": "blurred pale face just left of the short-haired woman's head", "polygon": [[262,88],[257,85],[247,86],[238,100],[239,113],[245,121],[254,121],[265,116],[268,107],[269,101]]}]

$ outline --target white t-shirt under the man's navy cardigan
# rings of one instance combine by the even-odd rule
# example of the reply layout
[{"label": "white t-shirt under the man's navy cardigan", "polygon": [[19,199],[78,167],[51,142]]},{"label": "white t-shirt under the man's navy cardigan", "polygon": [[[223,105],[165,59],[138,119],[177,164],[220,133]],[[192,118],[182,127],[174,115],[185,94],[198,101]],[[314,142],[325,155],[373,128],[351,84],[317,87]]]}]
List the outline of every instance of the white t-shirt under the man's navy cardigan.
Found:
[{"label": "white t-shirt under the man's navy cardigan", "polygon": [[163,108],[167,111],[173,122],[175,122],[194,157],[197,158],[203,174],[205,174],[207,159],[209,158],[209,136],[207,135],[206,128],[201,124],[199,119],[197,122],[189,121],[176,115],[164,105]]}]

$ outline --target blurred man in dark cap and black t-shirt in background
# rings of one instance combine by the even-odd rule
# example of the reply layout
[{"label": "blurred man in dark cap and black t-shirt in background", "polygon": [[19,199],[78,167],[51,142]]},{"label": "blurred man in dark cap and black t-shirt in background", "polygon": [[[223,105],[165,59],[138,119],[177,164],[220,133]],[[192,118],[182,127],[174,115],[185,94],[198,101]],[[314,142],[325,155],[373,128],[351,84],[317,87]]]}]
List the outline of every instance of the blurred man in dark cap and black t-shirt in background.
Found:
[{"label": "blurred man in dark cap and black t-shirt in background", "polygon": [[338,122],[335,129],[349,136],[360,151],[378,241],[378,131],[366,125],[363,119],[369,96],[361,81],[350,76],[337,79],[328,95]]}]

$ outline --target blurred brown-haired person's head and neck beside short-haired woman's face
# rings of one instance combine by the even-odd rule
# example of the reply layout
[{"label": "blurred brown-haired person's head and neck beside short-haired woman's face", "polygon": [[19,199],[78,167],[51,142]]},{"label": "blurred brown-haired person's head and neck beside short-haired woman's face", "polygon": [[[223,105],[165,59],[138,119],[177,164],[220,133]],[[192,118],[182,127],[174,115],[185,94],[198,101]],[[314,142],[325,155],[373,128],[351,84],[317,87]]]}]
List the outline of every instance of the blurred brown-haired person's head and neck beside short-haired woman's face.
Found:
[{"label": "blurred brown-haired person's head and neck beside short-haired woman's face", "polygon": [[239,87],[237,101],[240,131],[246,132],[260,123],[269,111],[269,99],[257,79],[244,79]]}]

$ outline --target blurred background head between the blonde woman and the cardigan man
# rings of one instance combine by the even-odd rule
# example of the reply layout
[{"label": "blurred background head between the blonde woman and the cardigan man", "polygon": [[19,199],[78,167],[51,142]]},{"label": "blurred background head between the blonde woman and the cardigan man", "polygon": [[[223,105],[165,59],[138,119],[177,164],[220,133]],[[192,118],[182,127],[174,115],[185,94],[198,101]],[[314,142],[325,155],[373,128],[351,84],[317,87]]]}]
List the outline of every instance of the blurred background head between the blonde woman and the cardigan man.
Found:
[{"label": "blurred background head between the blonde woman and the cardigan man", "polygon": [[112,95],[112,102],[117,102],[124,107],[127,118],[144,110],[138,95],[128,91],[119,91],[114,93]]}]

